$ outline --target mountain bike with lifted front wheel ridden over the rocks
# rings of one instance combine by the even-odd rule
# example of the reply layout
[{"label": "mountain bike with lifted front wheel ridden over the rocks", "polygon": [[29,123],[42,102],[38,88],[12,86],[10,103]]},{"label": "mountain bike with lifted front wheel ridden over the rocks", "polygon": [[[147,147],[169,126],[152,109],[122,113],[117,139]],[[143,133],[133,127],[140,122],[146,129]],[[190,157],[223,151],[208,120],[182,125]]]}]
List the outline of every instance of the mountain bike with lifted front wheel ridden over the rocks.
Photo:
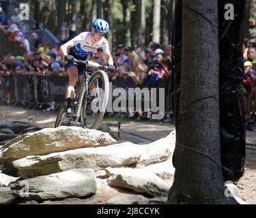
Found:
[{"label": "mountain bike with lifted front wheel ridden over the rocks", "polygon": [[85,65],[84,78],[72,99],[72,116],[66,116],[64,102],[59,109],[55,127],[79,126],[97,129],[104,117],[109,99],[109,78],[105,72],[109,71],[109,67],[93,61],[74,59],[73,62]]}]

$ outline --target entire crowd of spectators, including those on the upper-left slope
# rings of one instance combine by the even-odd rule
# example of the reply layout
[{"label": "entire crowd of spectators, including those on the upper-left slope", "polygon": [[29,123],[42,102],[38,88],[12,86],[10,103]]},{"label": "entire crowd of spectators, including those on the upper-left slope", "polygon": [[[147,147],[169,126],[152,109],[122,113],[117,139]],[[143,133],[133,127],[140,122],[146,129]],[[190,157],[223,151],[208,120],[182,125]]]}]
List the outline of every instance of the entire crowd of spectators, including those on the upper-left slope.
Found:
[{"label": "entire crowd of spectators, including those on the upper-left slope", "polygon": [[[0,87],[3,89],[3,97],[6,104],[11,103],[10,80],[18,74],[42,74],[45,76],[66,76],[65,66],[61,62],[59,49],[61,44],[57,44],[51,49],[48,44],[42,44],[37,33],[31,34],[31,41],[27,40],[22,32],[23,22],[20,18],[18,8],[14,8],[9,18],[5,17],[3,8],[0,7],[0,31],[8,35],[10,42],[18,42],[25,49],[23,56],[0,57]],[[67,28],[65,23],[62,27],[63,34],[61,41],[66,42],[75,37],[76,25]],[[170,76],[171,76],[171,45],[162,47],[160,44],[151,42],[147,48],[141,49],[139,46],[124,46],[120,44],[113,49],[113,59],[116,71],[108,72],[109,80],[113,83],[113,88],[143,87],[165,88],[165,109],[166,114],[162,121],[170,121]],[[97,63],[106,64],[102,49],[91,53],[90,59]],[[159,99],[158,99],[159,102]],[[151,119],[152,112],[111,112],[109,116],[128,116],[134,119]]]}]

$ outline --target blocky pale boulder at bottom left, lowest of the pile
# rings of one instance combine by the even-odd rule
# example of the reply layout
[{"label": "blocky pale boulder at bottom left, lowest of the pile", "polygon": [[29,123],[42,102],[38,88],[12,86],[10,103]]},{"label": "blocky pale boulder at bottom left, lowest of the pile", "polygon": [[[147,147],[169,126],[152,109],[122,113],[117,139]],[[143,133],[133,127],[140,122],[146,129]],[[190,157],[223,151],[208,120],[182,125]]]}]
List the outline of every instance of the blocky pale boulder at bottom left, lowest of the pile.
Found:
[{"label": "blocky pale boulder at bottom left, lowest of the pile", "polygon": [[91,169],[76,169],[29,178],[11,185],[14,196],[27,200],[83,198],[96,193],[96,175]]}]

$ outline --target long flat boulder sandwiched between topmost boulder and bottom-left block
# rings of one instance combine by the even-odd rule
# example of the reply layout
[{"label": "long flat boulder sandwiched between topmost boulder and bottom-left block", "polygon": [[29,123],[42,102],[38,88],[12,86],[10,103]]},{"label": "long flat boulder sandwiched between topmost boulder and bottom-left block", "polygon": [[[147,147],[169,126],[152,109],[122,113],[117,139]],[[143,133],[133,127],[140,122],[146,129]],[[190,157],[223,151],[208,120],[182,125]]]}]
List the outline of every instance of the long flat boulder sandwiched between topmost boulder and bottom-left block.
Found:
[{"label": "long flat boulder sandwiched between topmost boulder and bottom-left block", "polygon": [[113,144],[98,148],[84,148],[43,156],[29,156],[13,162],[23,178],[33,178],[71,170],[91,168],[96,171],[107,167],[128,167],[141,157],[137,145],[132,143]]}]

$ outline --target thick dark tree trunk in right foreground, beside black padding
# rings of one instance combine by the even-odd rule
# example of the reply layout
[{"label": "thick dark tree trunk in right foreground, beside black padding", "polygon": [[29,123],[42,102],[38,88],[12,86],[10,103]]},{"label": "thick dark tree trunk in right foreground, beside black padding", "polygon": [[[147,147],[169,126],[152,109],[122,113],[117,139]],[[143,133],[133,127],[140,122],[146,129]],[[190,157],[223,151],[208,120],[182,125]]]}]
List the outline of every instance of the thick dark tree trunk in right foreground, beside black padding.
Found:
[{"label": "thick dark tree trunk in right foreground, beside black padding", "polygon": [[[218,1],[183,0],[218,27]],[[225,204],[218,102],[218,29],[183,6],[180,114],[171,204]],[[199,64],[203,57],[204,64]],[[201,99],[205,96],[214,95]],[[196,101],[197,99],[201,99]],[[195,101],[195,102],[194,102]],[[194,102],[194,104],[190,104]],[[186,148],[184,147],[186,146]]]}]

